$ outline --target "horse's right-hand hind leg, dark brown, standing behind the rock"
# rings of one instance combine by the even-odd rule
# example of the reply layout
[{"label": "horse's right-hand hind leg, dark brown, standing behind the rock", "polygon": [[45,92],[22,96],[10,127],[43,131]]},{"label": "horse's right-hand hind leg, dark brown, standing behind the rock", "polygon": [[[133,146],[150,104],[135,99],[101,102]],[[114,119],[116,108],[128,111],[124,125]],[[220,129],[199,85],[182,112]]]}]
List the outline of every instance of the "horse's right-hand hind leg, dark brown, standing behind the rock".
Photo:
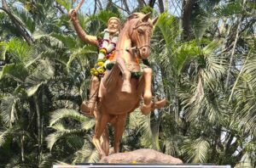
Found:
[{"label": "horse's right-hand hind leg, dark brown, standing behind the rock", "polygon": [[113,151],[114,153],[119,153],[119,144],[120,139],[125,130],[125,121],[127,114],[119,115],[113,124],[114,132],[113,132]]}]

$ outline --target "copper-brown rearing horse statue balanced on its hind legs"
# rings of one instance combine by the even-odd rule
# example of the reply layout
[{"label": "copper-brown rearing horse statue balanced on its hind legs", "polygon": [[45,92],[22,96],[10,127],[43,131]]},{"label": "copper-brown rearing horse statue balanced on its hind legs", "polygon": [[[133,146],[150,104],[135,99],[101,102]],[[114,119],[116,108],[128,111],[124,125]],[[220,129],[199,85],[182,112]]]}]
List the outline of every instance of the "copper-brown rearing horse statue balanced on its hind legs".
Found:
[{"label": "copper-brown rearing horse statue balanced on its hind legs", "polygon": [[[108,123],[114,127],[113,148],[114,152],[118,153],[127,115],[139,107],[142,99],[141,111],[144,115],[166,104],[165,99],[152,102],[152,70],[139,64],[141,59],[148,58],[150,37],[157,21],[157,18],[150,20],[149,15],[131,14],[125,21],[119,33],[119,42],[113,59],[115,64],[111,70],[106,70],[101,81],[99,100],[94,111],[96,126],[93,143],[102,157],[108,155],[108,129],[105,129]],[[134,74],[137,76],[133,77]],[[102,135],[106,137],[103,144]]]}]

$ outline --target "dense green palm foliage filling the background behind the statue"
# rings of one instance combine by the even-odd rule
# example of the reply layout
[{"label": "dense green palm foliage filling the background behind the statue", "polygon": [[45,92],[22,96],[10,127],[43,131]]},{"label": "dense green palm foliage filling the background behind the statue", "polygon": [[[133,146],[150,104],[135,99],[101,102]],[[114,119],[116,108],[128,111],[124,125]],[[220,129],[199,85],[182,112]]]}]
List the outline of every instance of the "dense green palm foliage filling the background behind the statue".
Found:
[{"label": "dense green palm foliage filling the background behind the statue", "polygon": [[[73,1],[7,2],[33,43],[27,44],[0,10],[1,166],[97,162],[91,143],[95,119],[78,113],[88,97],[97,49],[73,31],[67,17]],[[79,12],[89,35],[102,32],[112,16],[125,20],[113,2],[104,6],[94,15]],[[185,163],[255,166],[254,8],[253,1],[196,1],[191,16],[195,36],[189,42],[182,40],[179,18],[160,14],[149,62],[152,90],[168,104],[147,116],[138,109],[131,113],[122,151],[154,148]],[[157,15],[148,6],[137,10]]]}]

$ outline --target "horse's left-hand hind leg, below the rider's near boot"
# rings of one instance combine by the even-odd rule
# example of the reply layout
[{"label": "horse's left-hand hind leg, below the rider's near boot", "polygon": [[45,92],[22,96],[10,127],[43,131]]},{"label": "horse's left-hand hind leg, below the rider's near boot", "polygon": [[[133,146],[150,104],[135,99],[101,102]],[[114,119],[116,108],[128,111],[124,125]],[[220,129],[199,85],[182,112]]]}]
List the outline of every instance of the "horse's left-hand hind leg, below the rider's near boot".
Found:
[{"label": "horse's left-hand hind leg, below the rider's near boot", "polygon": [[109,120],[109,115],[106,113],[96,113],[96,126],[95,126],[95,135],[92,139],[92,143],[95,145],[96,149],[101,154],[101,157],[106,156],[106,152],[102,148],[102,143],[100,138],[102,137],[102,133],[107,127],[107,123]]}]

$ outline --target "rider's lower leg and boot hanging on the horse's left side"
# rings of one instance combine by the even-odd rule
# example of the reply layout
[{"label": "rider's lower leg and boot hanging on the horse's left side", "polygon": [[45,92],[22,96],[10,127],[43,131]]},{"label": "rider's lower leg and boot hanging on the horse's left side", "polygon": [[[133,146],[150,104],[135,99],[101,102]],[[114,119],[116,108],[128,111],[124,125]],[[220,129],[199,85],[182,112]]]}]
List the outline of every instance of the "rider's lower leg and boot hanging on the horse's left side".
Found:
[{"label": "rider's lower leg and boot hanging on the horse's left side", "polygon": [[89,101],[84,101],[81,104],[81,111],[84,115],[93,116],[96,100],[98,98],[99,87],[100,81],[98,77],[93,76],[90,83],[90,99]]}]

